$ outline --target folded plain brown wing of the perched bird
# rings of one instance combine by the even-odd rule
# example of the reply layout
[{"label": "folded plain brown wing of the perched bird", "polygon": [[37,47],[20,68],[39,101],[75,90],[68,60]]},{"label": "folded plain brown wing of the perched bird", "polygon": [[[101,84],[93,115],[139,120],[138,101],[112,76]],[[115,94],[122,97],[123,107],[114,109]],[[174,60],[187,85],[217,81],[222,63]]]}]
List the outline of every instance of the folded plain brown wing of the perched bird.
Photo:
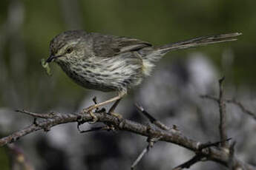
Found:
[{"label": "folded plain brown wing of the perched bird", "polygon": [[91,36],[93,37],[93,52],[99,57],[112,57],[123,52],[152,46],[148,42],[136,38],[102,35],[100,33],[91,33]]}]

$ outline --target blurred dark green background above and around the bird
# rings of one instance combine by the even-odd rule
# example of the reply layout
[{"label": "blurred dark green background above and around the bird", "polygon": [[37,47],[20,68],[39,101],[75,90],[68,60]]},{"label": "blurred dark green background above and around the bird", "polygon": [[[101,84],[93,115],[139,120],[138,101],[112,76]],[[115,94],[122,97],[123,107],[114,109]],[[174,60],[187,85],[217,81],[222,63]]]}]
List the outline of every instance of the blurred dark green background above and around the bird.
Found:
[{"label": "blurred dark green background above and around the bird", "polygon": [[[162,62],[204,52],[221,75],[228,75],[227,84],[255,89],[255,7],[252,0],[1,0],[0,107],[77,110],[88,91],[55,64],[50,64],[52,77],[39,64],[49,55],[51,38],[76,29],[135,37],[156,45],[201,35],[243,33],[235,42],[172,52]],[[226,49],[233,56],[229,72],[223,65]]]}]

